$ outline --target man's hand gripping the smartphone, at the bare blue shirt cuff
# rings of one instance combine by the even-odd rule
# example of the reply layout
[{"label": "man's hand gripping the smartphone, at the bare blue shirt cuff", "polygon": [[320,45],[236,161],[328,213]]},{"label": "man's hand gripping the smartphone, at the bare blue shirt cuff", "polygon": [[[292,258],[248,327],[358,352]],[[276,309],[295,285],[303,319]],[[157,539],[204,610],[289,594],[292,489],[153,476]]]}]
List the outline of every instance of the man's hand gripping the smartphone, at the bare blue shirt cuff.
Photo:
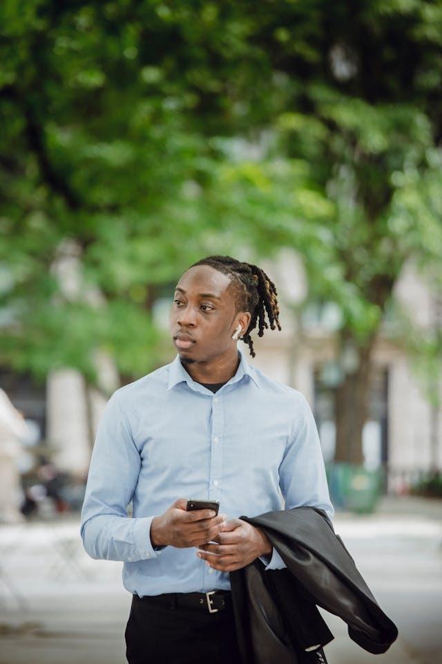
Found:
[{"label": "man's hand gripping the smartphone, at the bare blue shirt cuff", "polygon": [[227,515],[211,517],[213,510],[187,512],[186,504],[186,498],[178,498],[164,514],[152,519],[152,546],[200,546],[213,540],[222,531]]}]

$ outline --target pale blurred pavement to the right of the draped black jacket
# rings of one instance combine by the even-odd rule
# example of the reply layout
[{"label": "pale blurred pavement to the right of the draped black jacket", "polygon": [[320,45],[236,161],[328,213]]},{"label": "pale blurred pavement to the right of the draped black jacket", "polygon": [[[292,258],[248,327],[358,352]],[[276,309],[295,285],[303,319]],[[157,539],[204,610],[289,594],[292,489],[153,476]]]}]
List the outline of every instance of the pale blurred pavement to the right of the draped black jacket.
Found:
[{"label": "pale blurred pavement to the right of the draped black jacket", "polygon": [[321,609],[335,639],[329,664],[434,664],[442,647],[442,501],[383,497],[373,515],[339,512],[334,526],[399,635],[383,655],[356,647],[347,627]]}]

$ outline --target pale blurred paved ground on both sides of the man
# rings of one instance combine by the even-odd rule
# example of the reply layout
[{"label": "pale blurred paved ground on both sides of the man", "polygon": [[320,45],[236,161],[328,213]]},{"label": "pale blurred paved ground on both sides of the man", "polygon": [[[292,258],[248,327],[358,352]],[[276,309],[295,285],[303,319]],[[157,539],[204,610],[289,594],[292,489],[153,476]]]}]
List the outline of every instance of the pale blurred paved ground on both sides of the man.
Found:
[{"label": "pale blurred paved ground on both sides of the man", "polygon": [[[345,541],[399,638],[370,655],[323,611],[329,664],[430,664],[442,649],[442,503],[385,499],[376,515],[338,513]],[[90,560],[70,518],[0,528],[0,664],[124,664],[131,597],[120,563]],[[165,663],[166,664],[166,663]]]}]

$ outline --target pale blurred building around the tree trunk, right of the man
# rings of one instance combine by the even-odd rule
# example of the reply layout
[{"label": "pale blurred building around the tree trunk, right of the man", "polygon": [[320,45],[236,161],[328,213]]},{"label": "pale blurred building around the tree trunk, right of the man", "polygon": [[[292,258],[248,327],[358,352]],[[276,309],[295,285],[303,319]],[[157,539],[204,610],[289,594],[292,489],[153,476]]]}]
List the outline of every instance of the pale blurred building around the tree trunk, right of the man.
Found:
[{"label": "pale blurred building around the tree trunk, right of the man", "polygon": [[[269,266],[273,281],[283,292],[283,302],[296,301],[296,288],[302,284],[302,268],[290,254]],[[290,284],[298,284],[293,288]],[[282,288],[281,288],[282,286]],[[301,293],[302,295],[302,293]],[[421,329],[442,329],[442,297],[425,284],[418,270],[405,266],[394,296],[412,322]],[[280,319],[289,320],[289,311]],[[325,461],[334,459],[334,381],[336,374],[334,329],[338,313],[332,303],[312,305],[301,322],[285,325],[281,332],[258,339],[255,364],[305,394],[314,411]],[[299,334],[299,327],[302,334]],[[369,420],[363,432],[365,465],[384,465],[391,492],[406,491],[431,468],[442,467],[442,416],[427,400],[425,378],[417,376],[405,350],[391,340],[390,326],[384,320],[374,347],[374,372]],[[442,381],[439,403],[442,401]]]}]

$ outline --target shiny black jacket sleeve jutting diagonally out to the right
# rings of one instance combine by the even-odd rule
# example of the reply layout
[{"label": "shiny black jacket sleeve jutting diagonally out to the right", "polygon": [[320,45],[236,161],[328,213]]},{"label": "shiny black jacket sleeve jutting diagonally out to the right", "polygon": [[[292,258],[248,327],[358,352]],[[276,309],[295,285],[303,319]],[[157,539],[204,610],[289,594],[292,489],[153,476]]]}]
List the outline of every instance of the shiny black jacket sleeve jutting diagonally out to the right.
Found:
[{"label": "shiny black jacket sleeve jutting diagonally out to the right", "polygon": [[[260,515],[252,522],[269,528],[269,539],[307,604],[314,602],[342,618],[349,637],[367,652],[379,654],[390,647],[398,629],[378,605],[325,511],[298,507]],[[282,591],[287,587],[282,584]]]}]

